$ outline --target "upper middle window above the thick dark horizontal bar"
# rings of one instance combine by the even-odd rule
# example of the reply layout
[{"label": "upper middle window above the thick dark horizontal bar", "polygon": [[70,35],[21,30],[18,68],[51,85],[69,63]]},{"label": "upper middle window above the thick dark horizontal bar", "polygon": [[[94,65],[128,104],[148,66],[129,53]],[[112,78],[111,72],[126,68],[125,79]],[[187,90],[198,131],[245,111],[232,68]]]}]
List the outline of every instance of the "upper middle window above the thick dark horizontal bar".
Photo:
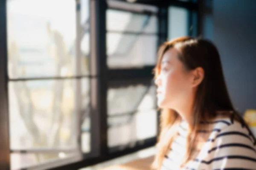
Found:
[{"label": "upper middle window above the thick dark horizontal bar", "polygon": [[[133,4],[119,2],[109,4],[112,6],[118,4],[119,9],[107,10],[108,67],[140,68],[154,65],[158,43],[156,9],[140,13],[122,10],[125,7],[132,8]],[[140,7],[144,9],[143,6]]]}]

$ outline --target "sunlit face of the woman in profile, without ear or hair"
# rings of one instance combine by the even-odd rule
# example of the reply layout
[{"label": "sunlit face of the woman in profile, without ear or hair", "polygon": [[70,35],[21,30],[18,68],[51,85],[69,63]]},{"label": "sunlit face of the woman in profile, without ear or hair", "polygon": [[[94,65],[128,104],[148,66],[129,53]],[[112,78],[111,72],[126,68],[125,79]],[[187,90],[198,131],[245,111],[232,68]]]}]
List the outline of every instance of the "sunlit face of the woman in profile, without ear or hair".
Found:
[{"label": "sunlit face of the woman in profile, without ear or hair", "polygon": [[163,55],[161,71],[155,80],[159,108],[175,109],[184,105],[192,93],[192,75],[178,59],[179,52],[170,48]]}]

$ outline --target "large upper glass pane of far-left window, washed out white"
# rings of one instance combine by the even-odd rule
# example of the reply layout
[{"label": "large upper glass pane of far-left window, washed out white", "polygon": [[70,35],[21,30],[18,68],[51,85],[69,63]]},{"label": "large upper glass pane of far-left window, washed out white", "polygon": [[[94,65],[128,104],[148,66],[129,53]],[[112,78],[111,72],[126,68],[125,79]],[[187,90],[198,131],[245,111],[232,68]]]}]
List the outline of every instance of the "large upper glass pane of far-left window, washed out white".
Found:
[{"label": "large upper glass pane of far-left window, washed out white", "polygon": [[76,75],[75,0],[8,0],[7,18],[10,78]]}]

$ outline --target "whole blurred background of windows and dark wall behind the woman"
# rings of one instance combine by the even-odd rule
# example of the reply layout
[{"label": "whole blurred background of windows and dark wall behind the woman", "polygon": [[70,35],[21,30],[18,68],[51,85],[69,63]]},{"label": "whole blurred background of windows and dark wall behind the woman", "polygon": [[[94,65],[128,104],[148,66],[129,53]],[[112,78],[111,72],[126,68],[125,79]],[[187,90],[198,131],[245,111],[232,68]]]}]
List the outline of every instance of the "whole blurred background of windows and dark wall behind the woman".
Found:
[{"label": "whole blurred background of windows and dark wall behind the woman", "polygon": [[158,46],[181,36],[215,43],[254,128],[255,30],[255,0],[1,0],[0,169],[114,169],[154,156],[152,69]]}]

